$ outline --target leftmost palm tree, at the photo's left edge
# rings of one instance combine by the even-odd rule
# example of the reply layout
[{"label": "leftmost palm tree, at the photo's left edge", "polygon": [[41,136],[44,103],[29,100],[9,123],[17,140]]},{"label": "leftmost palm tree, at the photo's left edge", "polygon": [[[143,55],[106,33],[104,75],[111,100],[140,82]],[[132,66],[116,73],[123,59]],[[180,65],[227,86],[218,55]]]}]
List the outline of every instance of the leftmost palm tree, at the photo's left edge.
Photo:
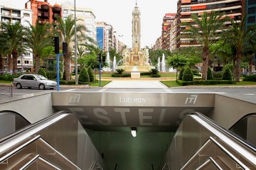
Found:
[{"label": "leftmost palm tree, at the photo's left edge", "polygon": [[[3,38],[8,45],[11,53],[9,54],[9,69],[13,67],[14,74],[17,73],[17,60],[18,54],[21,54],[25,51],[25,47],[23,46],[24,42],[24,29],[21,26],[21,23],[1,23],[1,28],[3,30]],[[11,55],[12,55],[12,63],[11,63]],[[12,64],[12,65],[11,65]]]}]

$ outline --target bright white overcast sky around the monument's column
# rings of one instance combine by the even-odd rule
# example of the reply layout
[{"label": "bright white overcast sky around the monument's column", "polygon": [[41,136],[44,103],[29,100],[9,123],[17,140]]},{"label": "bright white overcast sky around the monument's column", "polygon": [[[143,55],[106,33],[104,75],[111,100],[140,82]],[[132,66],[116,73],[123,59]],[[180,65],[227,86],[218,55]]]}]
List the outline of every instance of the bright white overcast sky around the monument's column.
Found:
[{"label": "bright white overcast sky around the monument's column", "polygon": [[[28,0],[7,1],[24,8]],[[43,1],[43,0],[41,0]],[[52,5],[63,4],[67,0],[48,0]],[[76,7],[92,8],[96,21],[104,21],[113,26],[124,45],[132,47],[132,11],[136,0],[69,0]],[[165,13],[176,13],[178,0],[137,0],[141,12],[141,47],[154,45],[161,36],[161,23]]]}]

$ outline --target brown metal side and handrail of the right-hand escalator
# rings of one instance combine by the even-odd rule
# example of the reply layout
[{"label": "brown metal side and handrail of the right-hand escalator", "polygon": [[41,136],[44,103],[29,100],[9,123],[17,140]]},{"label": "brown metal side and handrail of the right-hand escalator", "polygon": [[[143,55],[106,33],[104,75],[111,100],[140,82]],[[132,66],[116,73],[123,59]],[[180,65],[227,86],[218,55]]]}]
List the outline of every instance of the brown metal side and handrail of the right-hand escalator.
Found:
[{"label": "brown metal side and handrail of the right-hand escalator", "polygon": [[256,169],[256,149],[206,116],[193,113],[178,128],[160,169]]}]

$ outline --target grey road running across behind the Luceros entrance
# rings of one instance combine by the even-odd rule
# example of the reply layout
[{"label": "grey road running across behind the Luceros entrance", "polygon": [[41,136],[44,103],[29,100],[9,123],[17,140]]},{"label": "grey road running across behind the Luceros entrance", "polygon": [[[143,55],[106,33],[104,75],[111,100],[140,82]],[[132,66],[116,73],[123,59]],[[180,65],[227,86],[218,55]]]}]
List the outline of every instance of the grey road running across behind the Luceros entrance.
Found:
[{"label": "grey road running across behind the Luceros entrance", "polygon": [[[132,82],[134,84],[134,82]],[[6,94],[6,91],[3,91],[1,89],[6,89],[6,86],[1,86],[0,85],[0,99],[3,98],[8,98],[9,94]],[[40,90],[40,89],[16,89],[16,87],[12,87],[12,93],[13,93],[13,98],[16,96],[22,96],[26,94],[36,94],[42,91],[57,91],[56,89],[53,90]],[[225,87],[195,87],[195,88],[167,88],[167,87],[162,87],[162,88],[149,88],[148,86],[145,86],[145,88],[105,88],[105,87],[85,87],[85,88],[76,88],[75,86],[65,86],[61,87],[60,86],[60,91],[99,91],[99,92],[131,92],[131,93],[136,93],[136,92],[143,92],[143,93],[178,93],[178,92],[184,92],[184,93],[225,93],[225,94],[232,94],[233,96],[237,96],[240,98],[245,98],[249,101],[255,102],[256,103],[256,86],[244,86],[244,87],[237,87],[237,86],[225,86]]]}]

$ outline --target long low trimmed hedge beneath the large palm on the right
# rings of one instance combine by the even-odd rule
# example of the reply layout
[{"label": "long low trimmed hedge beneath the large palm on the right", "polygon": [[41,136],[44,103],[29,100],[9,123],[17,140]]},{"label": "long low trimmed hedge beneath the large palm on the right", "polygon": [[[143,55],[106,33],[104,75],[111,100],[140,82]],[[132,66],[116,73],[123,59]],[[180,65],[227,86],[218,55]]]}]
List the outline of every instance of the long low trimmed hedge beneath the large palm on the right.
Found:
[{"label": "long low trimmed hedge beneath the large palm on the right", "polygon": [[232,80],[195,80],[195,81],[181,81],[178,80],[177,83],[181,86],[187,85],[214,85],[214,84],[236,84]]}]

